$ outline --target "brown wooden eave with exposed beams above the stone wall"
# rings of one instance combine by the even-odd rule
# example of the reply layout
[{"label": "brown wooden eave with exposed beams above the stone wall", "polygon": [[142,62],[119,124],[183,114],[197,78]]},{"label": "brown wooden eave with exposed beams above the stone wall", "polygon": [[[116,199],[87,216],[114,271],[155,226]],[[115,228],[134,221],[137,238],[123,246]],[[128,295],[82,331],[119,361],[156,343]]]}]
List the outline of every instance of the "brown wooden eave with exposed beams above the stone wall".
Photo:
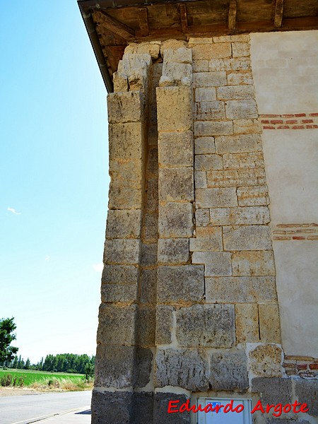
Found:
[{"label": "brown wooden eave with exposed beams above the stone wall", "polygon": [[78,0],[107,90],[129,42],[318,29],[318,0]]}]

